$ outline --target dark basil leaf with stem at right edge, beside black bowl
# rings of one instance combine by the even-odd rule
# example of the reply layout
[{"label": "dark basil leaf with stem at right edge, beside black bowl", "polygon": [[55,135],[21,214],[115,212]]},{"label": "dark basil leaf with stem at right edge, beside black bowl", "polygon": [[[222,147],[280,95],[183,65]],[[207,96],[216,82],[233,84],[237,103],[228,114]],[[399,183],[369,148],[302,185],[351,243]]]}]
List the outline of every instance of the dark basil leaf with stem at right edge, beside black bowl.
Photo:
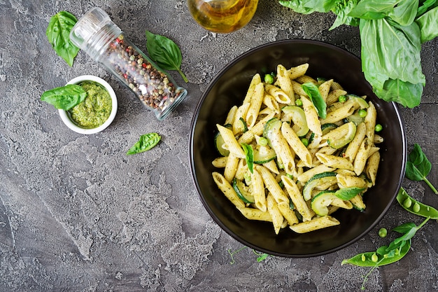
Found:
[{"label": "dark basil leaf with stem at right edge, beside black bowl", "polygon": [[414,144],[414,149],[409,153],[406,163],[406,177],[411,181],[425,181],[433,192],[438,195],[438,190],[426,178],[430,169],[432,169],[432,165],[425,153],[418,144]]}]

